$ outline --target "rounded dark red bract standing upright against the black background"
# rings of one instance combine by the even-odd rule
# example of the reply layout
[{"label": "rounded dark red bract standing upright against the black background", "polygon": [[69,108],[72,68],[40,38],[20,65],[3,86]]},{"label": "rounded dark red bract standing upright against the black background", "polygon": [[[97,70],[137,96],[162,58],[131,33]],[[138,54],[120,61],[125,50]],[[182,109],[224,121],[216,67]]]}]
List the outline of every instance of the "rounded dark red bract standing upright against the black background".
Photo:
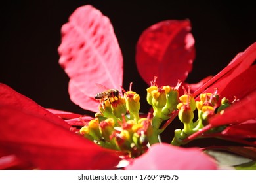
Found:
[{"label": "rounded dark red bract standing upright against the black background", "polygon": [[140,76],[148,85],[158,77],[158,85],[175,86],[184,81],[195,58],[194,37],[189,20],[165,20],[140,35],[136,63]]}]

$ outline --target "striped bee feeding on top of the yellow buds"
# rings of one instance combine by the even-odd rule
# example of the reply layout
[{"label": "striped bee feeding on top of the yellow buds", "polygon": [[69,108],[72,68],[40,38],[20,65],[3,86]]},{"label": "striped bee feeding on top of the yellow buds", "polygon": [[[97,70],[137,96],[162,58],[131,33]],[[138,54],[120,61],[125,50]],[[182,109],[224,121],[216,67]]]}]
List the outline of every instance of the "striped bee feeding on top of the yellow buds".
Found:
[{"label": "striped bee feeding on top of the yellow buds", "polygon": [[[102,85],[100,85],[100,84],[96,84],[96,85],[98,85],[98,86],[103,87],[103,88],[106,89],[104,92],[100,92],[100,93],[97,93],[97,94],[95,95],[95,99],[96,99],[96,100],[100,100],[100,102],[101,102],[102,104],[104,104],[104,102],[105,102],[106,100],[109,100],[111,97],[112,97],[112,98],[115,98],[115,97],[119,98],[119,95],[120,95],[119,90],[116,90],[116,89],[107,89],[106,87],[104,87],[104,86],[102,86]],[[111,102],[110,102],[110,103],[111,103]]]}]

